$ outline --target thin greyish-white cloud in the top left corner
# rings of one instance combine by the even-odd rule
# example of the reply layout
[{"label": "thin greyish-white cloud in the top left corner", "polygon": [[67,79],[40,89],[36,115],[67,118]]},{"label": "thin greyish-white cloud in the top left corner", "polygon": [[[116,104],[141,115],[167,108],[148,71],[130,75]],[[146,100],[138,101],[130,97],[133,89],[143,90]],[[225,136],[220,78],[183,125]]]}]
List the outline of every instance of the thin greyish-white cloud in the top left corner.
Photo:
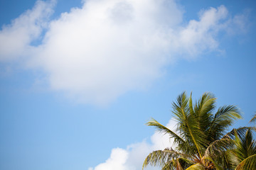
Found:
[{"label": "thin greyish-white cloud in the top left corner", "polygon": [[53,13],[55,1],[37,1],[35,6],[11,21],[0,30],[0,62],[12,60],[25,55],[30,50],[30,44],[36,40],[47,19]]}]

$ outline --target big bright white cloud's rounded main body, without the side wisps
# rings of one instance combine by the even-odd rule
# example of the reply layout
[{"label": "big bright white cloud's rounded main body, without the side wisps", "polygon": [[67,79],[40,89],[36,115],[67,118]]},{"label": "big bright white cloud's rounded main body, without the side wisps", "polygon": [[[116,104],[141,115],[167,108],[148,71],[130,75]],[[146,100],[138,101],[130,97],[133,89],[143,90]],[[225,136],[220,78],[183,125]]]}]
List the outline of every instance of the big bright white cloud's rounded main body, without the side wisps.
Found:
[{"label": "big bright white cloud's rounded main body, without the side wisps", "polygon": [[159,6],[164,4],[87,1],[50,23],[34,62],[48,73],[52,89],[85,103],[107,103],[144,88],[166,63],[169,29],[164,26],[181,20],[173,7],[178,19],[159,21],[162,15],[170,16]]}]

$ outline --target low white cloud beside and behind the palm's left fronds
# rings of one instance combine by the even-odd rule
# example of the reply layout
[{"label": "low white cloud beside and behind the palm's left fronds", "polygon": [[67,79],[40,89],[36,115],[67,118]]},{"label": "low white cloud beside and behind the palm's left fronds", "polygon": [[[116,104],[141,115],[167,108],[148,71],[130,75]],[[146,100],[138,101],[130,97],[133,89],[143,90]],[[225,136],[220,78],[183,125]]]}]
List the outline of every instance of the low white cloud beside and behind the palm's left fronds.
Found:
[{"label": "low white cloud beside and behind the palm's left fronds", "polygon": [[[176,125],[176,122],[170,120],[166,127],[174,130],[174,125]],[[144,159],[150,152],[166,147],[174,147],[173,140],[170,140],[168,135],[155,132],[151,136],[151,144],[144,140],[143,142],[129,145],[127,149],[114,148],[106,162],[88,170],[139,170],[142,169]],[[146,169],[156,170],[159,168],[148,166]]]}]

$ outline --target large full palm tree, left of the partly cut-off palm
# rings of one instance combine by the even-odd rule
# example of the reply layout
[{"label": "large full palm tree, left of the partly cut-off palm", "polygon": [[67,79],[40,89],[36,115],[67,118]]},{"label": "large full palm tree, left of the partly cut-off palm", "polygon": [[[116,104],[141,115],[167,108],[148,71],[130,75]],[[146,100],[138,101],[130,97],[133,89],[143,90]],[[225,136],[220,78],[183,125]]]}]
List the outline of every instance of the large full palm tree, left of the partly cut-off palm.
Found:
[{"label": "large full palm tree, left of the partly cut-off palm", "polygon": [[[235,119],[242,117],[235,106],[222,106],[215,111],[215,100],[213,94],[206,93],[193,103],[192,95],[188,97],[183,92],[172,105],[177,121],[176,131],[154,119],[146,123],[174,138],[176,148],[151,152],[144,160],[142,169],[148,165],[161,166],[162,170],[228,167],[225,151],[233,146],[233,142],[225,131]],[[244,131],[244,128],[237,130],[238,134]]]}]

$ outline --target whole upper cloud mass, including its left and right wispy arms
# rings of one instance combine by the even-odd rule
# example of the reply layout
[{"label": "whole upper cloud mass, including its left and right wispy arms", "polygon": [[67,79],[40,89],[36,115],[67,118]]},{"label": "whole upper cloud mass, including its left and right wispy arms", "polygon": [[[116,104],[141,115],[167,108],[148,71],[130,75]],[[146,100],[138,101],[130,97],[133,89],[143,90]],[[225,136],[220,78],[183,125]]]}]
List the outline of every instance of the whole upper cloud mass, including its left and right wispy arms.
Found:
[{"label": "whole upper cloud mass, including its left and right wispy arms", "polygon": [[[184,24],[174,0],[88,0],[46,23],[53,4],[38,1],[1,30],[0,59],[28,56],[28,67],[42,69],[50,89],[83,103],[106,104],[144,89],[178,57],[218,50],[220,31],[244,28],[225,6]],[[45,25],[40,45],[31,45]]]}]

